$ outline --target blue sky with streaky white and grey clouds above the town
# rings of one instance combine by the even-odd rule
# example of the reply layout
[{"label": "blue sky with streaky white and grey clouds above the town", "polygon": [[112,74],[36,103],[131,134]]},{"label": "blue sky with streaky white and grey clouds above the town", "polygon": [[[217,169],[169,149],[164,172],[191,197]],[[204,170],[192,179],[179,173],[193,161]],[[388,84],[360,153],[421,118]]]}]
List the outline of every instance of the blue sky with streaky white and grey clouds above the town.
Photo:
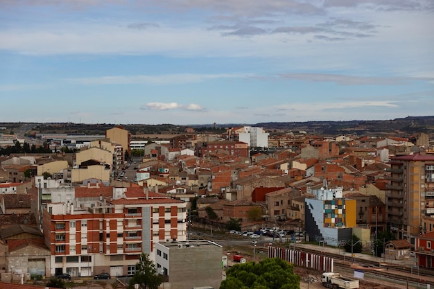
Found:
[{"label": "blue sky with streaky white and grey clouds above the town", "polygon": [[0,123],[431,116],[432,0],[0,0]]}]

